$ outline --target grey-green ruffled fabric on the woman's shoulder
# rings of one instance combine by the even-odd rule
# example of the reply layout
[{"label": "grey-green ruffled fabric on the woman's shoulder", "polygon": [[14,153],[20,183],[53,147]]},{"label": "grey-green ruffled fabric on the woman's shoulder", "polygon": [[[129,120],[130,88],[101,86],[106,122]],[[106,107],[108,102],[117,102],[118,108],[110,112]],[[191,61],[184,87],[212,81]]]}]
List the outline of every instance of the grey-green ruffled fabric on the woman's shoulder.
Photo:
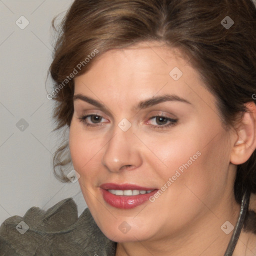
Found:
[{"label": "grey-green ruffled fabric on the woman's shoulder", "polygon": [[11,216],[0,225],[0,256],[103,256],[114,255],[115,246],[97,227],[88,208],[77,217],[71,197],[46,211],[31,207],[23,217]]}]

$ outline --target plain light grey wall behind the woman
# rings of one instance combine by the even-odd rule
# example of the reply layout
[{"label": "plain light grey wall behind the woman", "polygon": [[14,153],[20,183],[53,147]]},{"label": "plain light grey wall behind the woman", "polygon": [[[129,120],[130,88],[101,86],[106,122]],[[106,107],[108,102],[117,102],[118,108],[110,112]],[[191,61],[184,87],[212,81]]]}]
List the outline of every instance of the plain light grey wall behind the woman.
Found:
[{"label": "plain light grey wall behind the woman", "polygon": [[[72,0],[0,0],[0,223],[23,216],[32,206],[44,210],[73,197],[78,215],[86,207],[78,182],[61,183],[52,170],[60,137],[51,119],[52,91],[46,80],[54,33],[52,18]],[[29,24],[20,29],[15,21]],[[45,82],[46,80],[46,82]],[[25,119],[23,131],[16,123]],[[20,127],[22,128],[22,127]]]}]

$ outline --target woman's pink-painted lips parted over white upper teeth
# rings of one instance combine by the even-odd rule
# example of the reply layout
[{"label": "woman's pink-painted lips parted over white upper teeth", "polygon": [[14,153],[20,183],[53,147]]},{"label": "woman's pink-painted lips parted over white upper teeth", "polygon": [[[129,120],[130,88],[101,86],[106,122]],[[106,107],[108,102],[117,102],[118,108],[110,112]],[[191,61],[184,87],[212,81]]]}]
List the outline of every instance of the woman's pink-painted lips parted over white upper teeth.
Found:
[{"label": "woman's pink-painted lips parted over white upper teeth", "polygon": [[[154,187],[115,183],[103,183],[99,187],[105,202],[120,209],[130,209],[141,205],[158,190]],[[131,191],[132,195],[130,195]]]}]

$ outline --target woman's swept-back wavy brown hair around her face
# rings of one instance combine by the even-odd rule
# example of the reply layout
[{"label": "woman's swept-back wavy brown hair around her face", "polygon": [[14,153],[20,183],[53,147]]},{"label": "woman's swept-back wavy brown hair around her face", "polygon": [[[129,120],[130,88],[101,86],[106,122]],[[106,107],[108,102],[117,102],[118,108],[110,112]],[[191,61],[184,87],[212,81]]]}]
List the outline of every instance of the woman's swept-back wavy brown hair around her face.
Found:
[{"label": "woman's swept-back wavy brown hair around her face", "polygon": [[[225,27],[227,20],[234,24]],[[57,31],[54,19],[52,25]],[[189,56],[216,96],[226,126],[233,125],[237,113],[246,111],[244,103],[253,100],[256,10],[251,0],[74,0],[59,26],[49,68],[56,100],[54,130],[70,126],[74,92],[70,77],[74,69],[80,75],[107,50],[141,41],[160,41],[179,47]],[[63,182],[69,181],[64,170],[68,163],[71,159],[66,140],[53,157],[54,174]],[[237,165],[237,202],[246,188],[256,193],[255,151],[245,163]]]}]

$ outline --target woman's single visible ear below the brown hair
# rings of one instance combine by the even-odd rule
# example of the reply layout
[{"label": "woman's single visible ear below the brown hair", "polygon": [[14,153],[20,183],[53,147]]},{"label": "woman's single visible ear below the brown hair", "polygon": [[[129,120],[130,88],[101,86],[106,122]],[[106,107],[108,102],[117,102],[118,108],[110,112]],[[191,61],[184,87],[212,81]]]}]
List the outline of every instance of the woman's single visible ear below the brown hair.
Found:
[{"label": "woman's single visible ear below the brown hair", "polygon": [[234,144],[230,154],[233,164],[246,162],[256,148],[256,105],[250,101],[245,103],[245,107],[248,111],[243,113],[234,128]]}]

